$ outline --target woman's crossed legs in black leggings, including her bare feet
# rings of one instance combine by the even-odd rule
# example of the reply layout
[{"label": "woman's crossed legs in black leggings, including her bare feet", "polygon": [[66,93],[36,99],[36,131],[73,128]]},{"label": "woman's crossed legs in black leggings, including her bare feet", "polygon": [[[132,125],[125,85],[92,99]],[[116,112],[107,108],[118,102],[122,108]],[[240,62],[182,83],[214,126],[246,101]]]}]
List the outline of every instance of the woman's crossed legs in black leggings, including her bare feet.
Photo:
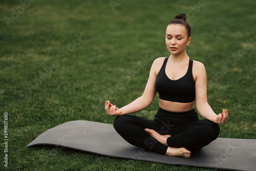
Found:
[{"label": "woman's crossed legs in black leggings, including her bare feet", "polygon": [[133,115],[118,116],[114,121],[117,133],[130,144],[159,154],[184,158],[190,158],[188,149],[202,148],[215,140],[220,132],[218,124],[206,119],[188,124],[172,136],[158,134],[162,126],[155,120]]}]

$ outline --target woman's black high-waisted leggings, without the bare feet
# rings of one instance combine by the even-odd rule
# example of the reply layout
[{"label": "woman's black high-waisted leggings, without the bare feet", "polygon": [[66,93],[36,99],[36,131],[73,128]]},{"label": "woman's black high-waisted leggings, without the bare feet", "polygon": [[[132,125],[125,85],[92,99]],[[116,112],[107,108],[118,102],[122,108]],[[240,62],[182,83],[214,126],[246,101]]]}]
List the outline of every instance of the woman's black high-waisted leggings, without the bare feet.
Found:
[{"label": "woman's black high-waisted leggings, without the bare feet", "polygon": [[[189,150],[202,148],[220,133],[219,124],[206,119],[199,120],[195,110],[174,113],[159,109],[154,120],[122,115],[115,118],[114,128],[130,144],[163,155],[168,146],[185,147]],[[167,138],[168,146],[150,136],[144,130],[146,128],[161,135],[171,135]]]}]

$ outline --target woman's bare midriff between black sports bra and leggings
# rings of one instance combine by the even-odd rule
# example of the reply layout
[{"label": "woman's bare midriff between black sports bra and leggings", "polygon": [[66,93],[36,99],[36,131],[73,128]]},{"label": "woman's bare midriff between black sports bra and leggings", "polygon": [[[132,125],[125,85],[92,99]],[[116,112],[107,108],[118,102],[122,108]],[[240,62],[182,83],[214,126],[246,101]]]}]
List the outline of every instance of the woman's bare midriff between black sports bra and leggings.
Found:
[{"label": "woman's bare midriff between black sports bra and leggings", "polygon": [[189,103],[180,103],[159,99],[159,107],[170,112],[187,112],[194,109],[195,101]]}]

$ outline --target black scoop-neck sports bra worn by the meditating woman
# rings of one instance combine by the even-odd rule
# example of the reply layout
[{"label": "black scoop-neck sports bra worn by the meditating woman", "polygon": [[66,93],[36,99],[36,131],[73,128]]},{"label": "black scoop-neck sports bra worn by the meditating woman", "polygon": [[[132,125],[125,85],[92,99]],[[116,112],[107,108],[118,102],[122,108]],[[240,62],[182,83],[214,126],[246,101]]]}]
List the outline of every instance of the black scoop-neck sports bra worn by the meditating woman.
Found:
[{"label": "black scoop-neck sports bra worn by the meditating woman", "polygon": [[196,89],[192,74],[193,60],[189,59],[189,65],[186,74],[177,80],[171,80],[165,73],[165,67],[168,57],[164,59],[163,66],[156,78],[156,90],[159,98],[167,101],[188,103],[195,101]]}]

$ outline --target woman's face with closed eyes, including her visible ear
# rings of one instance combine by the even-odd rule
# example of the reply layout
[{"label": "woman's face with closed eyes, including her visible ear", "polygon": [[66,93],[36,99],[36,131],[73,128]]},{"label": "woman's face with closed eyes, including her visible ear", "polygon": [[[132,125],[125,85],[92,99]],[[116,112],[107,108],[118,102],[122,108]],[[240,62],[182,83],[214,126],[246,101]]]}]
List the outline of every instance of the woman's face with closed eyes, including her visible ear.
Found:
[{"label": "woman's face with closed eyes, including her visible ear", "polygon": [[185,26],[170,24],[166,28],[165,44],[171,54],[179,54],[186,50],[191,37],[187,37]]}]

